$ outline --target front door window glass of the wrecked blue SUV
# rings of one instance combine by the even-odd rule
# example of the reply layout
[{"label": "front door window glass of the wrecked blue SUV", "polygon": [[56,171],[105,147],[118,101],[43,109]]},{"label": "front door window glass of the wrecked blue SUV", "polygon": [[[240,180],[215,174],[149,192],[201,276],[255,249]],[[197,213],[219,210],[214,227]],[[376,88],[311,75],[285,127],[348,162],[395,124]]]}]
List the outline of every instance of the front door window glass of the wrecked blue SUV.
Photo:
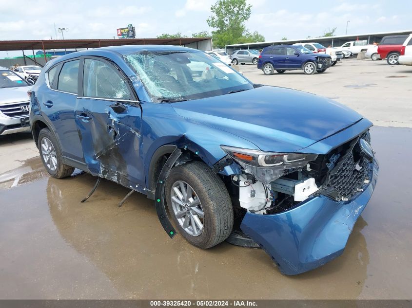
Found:
[{"label": "front door window glass of the wrecked blue SUV", "polygon": [[113,65],[85,59],[83,72],[83,96],[132,99],[126,81]]}]

